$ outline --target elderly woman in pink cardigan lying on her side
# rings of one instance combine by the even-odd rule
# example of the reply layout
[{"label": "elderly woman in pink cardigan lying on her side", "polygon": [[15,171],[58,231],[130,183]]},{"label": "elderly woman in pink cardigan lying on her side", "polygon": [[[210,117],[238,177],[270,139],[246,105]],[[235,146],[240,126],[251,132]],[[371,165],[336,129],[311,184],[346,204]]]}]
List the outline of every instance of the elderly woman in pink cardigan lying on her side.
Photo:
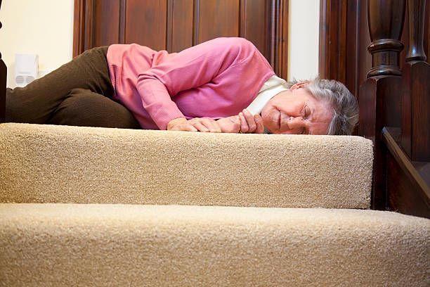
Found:
[{"label": "elderly woman in pink cardigan lying on her side", "polygon": [[179,53],[137,44],[91,49],[24,88],[6,121],[273,134],[351,134],[356,98],[336,81],[287,83],[243,38]]}]

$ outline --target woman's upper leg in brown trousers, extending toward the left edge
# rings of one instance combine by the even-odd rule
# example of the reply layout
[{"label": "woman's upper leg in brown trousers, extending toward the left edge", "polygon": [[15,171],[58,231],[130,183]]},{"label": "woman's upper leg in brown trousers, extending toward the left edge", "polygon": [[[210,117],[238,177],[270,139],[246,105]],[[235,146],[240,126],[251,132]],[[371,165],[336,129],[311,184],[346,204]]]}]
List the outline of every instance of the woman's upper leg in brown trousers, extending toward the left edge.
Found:
[{"label": "woman's upper leg in brown trousers, extending toward the left edge", "polygon": [[45,124],[72,89],[88,89],[112,98],[107,46],[85,51],[26,87],[6,91],[6,122]]}]

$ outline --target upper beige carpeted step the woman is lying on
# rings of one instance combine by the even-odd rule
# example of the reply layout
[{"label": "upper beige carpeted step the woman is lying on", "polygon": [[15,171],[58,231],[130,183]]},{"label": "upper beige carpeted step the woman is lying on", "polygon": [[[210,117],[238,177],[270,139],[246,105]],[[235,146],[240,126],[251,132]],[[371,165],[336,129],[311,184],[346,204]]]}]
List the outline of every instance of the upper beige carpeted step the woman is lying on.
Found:
[{"label": "upper beige carpeted step the woman is lying on", "polygon": [[0,202],[369,208],[372,143],[0,125]]}]

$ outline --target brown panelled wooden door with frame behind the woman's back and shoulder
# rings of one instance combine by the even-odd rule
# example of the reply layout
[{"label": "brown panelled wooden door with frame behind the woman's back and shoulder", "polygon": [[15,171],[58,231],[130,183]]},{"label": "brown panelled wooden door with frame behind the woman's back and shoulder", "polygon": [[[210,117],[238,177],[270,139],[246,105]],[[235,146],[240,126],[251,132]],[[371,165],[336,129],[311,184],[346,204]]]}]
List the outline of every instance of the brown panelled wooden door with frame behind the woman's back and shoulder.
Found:
[{"label": "brown panelled wooden door with frame behind the woman's back and shoulder", "polygon": [[288,0],[75,0],[73,55],[137,43],[176,52],[245,37],[287,78]]}]

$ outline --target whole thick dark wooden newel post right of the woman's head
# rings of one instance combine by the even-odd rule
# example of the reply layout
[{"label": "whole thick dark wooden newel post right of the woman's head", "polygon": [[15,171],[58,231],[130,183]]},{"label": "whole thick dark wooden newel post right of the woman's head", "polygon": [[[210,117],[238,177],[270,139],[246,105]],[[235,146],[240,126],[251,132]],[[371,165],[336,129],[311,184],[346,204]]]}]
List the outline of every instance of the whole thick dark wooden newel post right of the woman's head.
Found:
[{"label": "whole thick dark wooden newel post right of the woman's head", "polygon": [[[374,143],[372,208],[386,208],[385,153],[382,128],[400,127],[401,75],[399,41],[403,29],[405,1],[367,0],[367,20],[372,43],[372,68],[360,86],[360,134]],[[393,104],[394,103],[394,104]]]}]

